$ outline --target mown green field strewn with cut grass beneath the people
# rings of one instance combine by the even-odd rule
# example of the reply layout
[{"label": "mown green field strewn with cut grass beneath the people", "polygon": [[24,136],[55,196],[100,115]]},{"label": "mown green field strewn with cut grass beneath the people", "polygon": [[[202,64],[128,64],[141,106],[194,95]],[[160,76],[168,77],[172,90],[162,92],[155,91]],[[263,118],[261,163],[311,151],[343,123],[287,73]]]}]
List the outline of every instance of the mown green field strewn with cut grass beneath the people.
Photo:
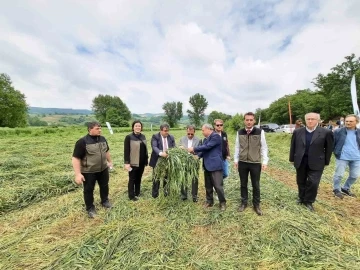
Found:
[{"label": "mown green field strewn with cut grass beneath the people", "polygon": [[[237,211],[233,170],[225,181],[225,212],[217,204],[202,207],[202,178],[199,203],[152,199],[150,169],[140,200],[129,201],[122,169],[127,133],[104,130],[114,161],[114,207],[102,209],[96,189],[98,216],[88,219],[71,167],[74,143],[85,132],[64,128],[0,138],[0,269],[360,269],[360,199],[333,197],[332,161],[316,212],[297,205],[289,135],[267,134],[270,163],[261,178],[259,217],[251,207]],[[178,141],[185,132],[172,134]],[[360,197],[359,183],[353,191]]]}]

